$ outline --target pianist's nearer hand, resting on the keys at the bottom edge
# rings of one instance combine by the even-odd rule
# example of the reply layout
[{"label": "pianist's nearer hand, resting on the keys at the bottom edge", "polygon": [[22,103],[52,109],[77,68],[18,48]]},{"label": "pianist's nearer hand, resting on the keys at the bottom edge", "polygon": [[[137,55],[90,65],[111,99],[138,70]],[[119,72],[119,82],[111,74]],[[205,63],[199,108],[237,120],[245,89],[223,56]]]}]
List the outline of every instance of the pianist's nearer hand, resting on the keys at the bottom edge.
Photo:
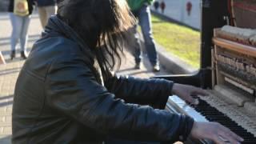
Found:
[{"label": "pianist's nearer hand, resting on the keys at the bottom edge", "polygon": [[190,135],[193,138],[210,139],[216,144],[238,144],[243,141],[241,137],[218,122],[194,122]]}]

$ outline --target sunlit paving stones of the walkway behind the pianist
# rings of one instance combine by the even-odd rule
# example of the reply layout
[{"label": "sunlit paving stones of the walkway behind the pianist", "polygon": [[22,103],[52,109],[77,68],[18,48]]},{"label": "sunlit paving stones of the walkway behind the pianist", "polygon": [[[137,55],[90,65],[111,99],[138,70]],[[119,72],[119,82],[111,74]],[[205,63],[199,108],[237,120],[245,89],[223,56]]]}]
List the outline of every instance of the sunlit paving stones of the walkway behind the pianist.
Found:
[{"label": "sunlit paving stones of the walkway behind the pianist", "polygon": [[[33,15],[30,22],[29,29],[29,45],[31,49],[33,43],[39,38],[41,33],[41,25],[36,14]],[[11,112],[14,94],[14,85],[18,77],[19,70],[21,70],[24,61],[15,58],[10,61],[10,33],[11,26],[8,14],[0,13],[0,50],[6,58],[6,65],[0,65],[0,143],[10,143],[11,134]],[[146,58],[145,58],[146,59]],[[165,71],[152,73],[151,67],[147,60],[143,61],[142,70],[134,70],[133,57],[126,53],[126,61],[122,63],[120,74],[130,74],[140,78],[149,78],[155,74],[167,74]]]}]

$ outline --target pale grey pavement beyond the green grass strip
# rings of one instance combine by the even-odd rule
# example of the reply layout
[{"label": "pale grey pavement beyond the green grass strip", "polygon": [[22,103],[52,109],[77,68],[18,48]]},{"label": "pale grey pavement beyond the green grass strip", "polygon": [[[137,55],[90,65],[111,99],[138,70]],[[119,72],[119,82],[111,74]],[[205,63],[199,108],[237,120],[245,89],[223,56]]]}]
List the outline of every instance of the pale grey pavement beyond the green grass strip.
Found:
[{"label": "pale grey pavement beyond the green grass strip", "polygon": [[[201,0],[163,0],[166,2],[165,15],[174,18],[178,22],[183,22],[196,29],[201,28]],[[158,0],[162,2],[162,0]],[[190,15],[186,12],[186,4],[191,2],[192,8]],[[154,9],[152,9],[154,10]],[[160,10],[158,10],[160,12]]]}]

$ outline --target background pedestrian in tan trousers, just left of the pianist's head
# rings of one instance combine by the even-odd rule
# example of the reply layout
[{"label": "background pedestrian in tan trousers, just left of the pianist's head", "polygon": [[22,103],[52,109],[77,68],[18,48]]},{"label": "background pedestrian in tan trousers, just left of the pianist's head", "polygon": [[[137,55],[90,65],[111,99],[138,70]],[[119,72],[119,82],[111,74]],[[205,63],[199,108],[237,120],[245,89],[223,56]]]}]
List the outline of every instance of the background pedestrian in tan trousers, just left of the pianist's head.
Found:
[{"label": "background pedestrian in tan trousers, just left of the pianist's head", "polygon": [[45,28],[50,16],[57,12],[56,0],[36,0],[36,2],[42,28]]}]

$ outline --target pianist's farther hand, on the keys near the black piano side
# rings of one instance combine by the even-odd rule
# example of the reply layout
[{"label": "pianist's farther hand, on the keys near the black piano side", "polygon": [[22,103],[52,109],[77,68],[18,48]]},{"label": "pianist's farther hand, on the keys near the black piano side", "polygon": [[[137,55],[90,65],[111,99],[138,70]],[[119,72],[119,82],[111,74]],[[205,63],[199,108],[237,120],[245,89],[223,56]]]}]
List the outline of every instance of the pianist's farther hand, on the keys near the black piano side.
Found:
[{"label": "pianist's farther hand, on the keys near the black piano side", "polygon": [[178,83],[174,83],[172,93],[178,95],[179,98],[182,98],[186,102],[190,102],[191,104],[197,104],[195,98],[192,95],[208,95],[205,90],[202,90],[198,87],[182,85]]}]

